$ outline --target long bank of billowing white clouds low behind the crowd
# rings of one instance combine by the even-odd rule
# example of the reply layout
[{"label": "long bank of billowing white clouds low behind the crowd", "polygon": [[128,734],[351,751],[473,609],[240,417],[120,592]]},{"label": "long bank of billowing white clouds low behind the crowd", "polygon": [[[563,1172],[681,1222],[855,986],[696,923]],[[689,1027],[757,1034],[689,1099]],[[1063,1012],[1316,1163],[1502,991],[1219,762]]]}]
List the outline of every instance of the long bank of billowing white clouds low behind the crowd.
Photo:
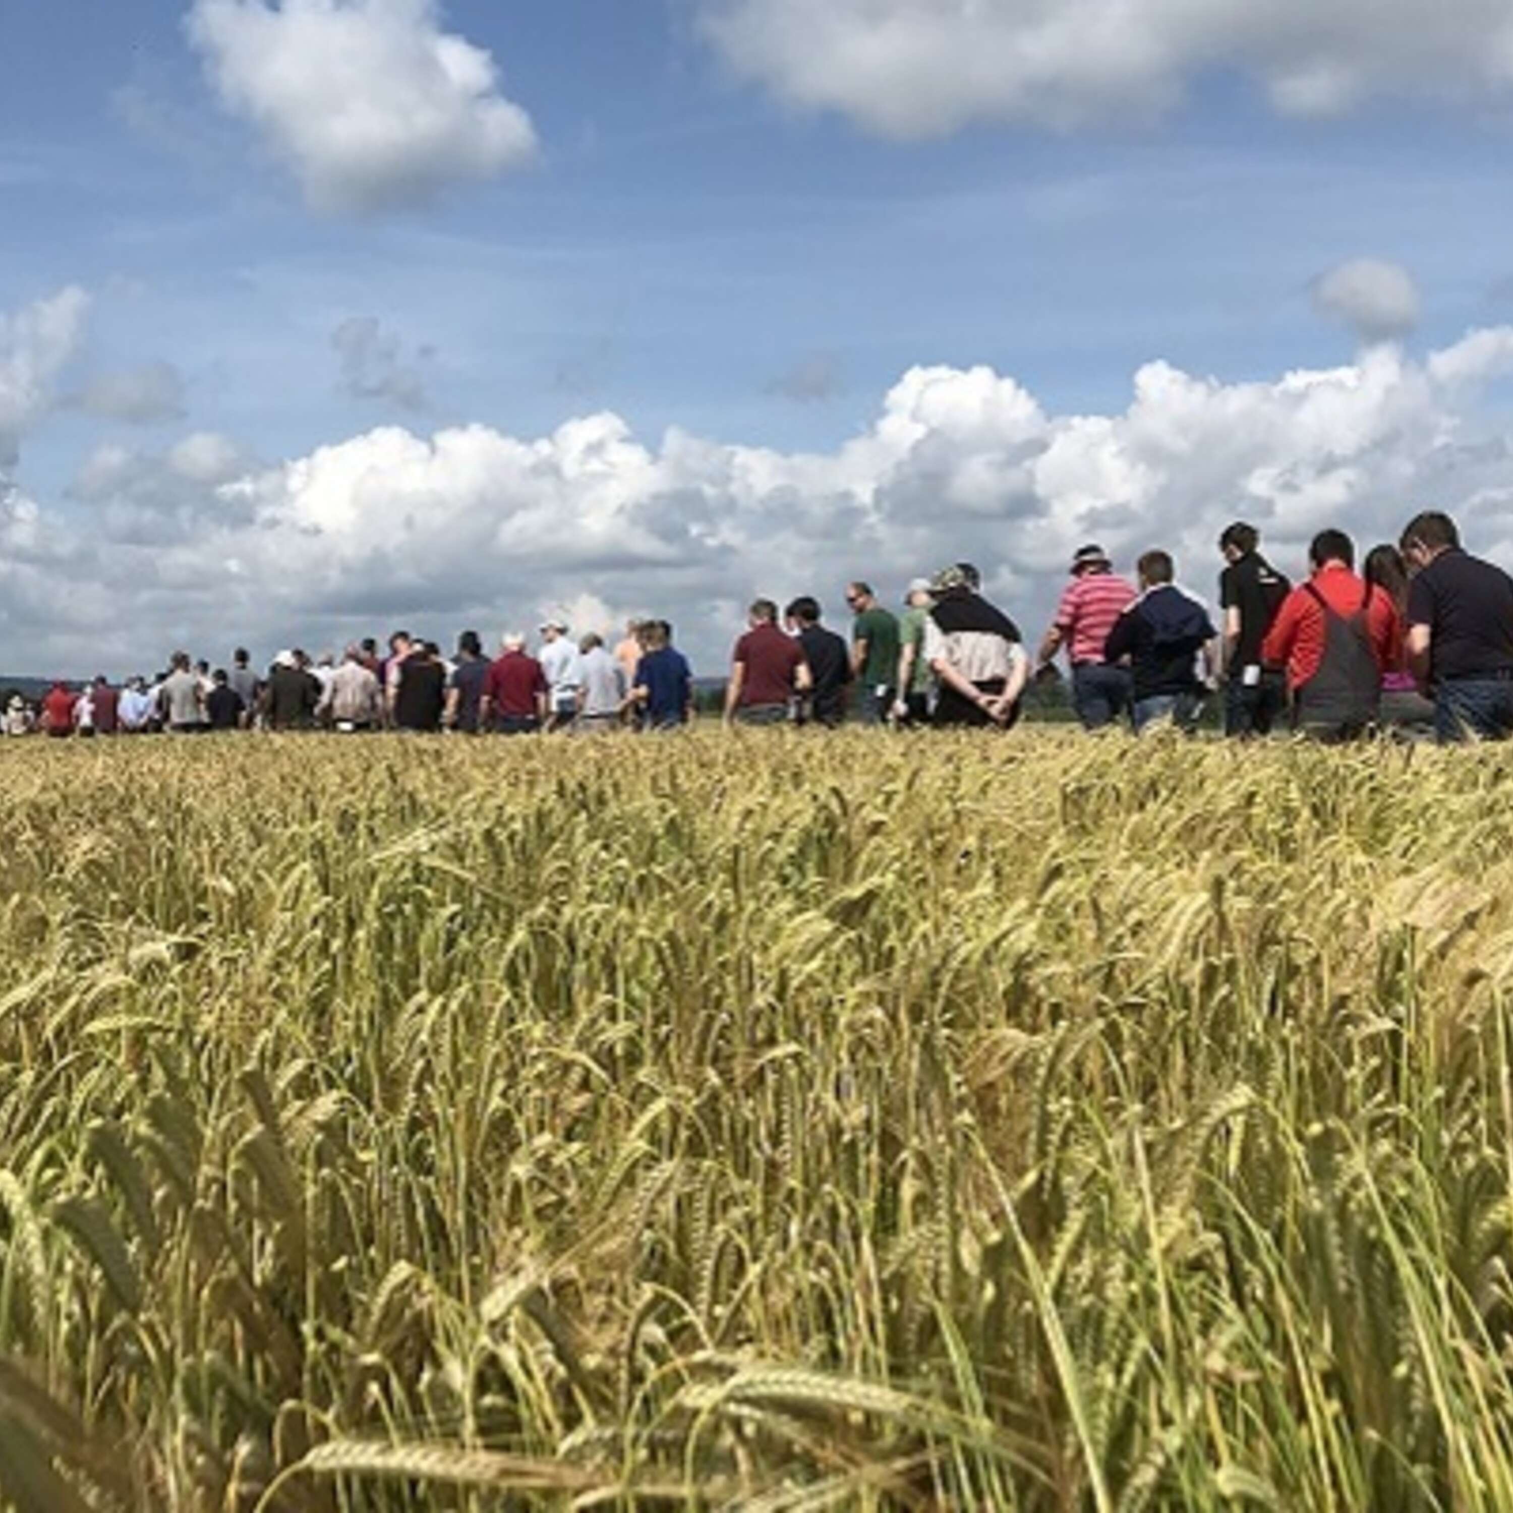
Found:
[{"label": "long bank of billowing white clouds low behind the crowd", "polygon": [[1029,632],[1085,540],[1126,566],[1170,546],[1203,586],[1236,514],[1292,569],[1325,523],[1368,545],[1425,505],[1513,563],[1513,427],[1480,418],[1507,374],[1513,327],[1493,327],[1424,360],[1378,345],[1266,383],[1153,362],[1094,415],[990,368],[921,366],[822,452],[676,427],[645,440],[608,412],[539,437],[380,427],[274,466],[215,434],[112,445],[68,507],[0,495],[0,628],[32,663],[3,670],[313,651],[399,623],[492,637],[566,604],[598,623],[666,613],[716,672],[755,593],[814,592],[838,617],[847,578],[891,599],[964,557]]}]

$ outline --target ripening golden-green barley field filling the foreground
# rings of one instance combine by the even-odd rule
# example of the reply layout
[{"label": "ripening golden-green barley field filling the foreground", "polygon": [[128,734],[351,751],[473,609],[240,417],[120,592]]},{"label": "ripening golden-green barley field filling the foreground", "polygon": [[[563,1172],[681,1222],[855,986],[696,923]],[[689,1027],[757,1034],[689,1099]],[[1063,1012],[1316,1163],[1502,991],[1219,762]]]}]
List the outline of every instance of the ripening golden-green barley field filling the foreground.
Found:
[{"label": "ripening golden-green barley field filling the foreground", "polygon": [[0,1505],[1513,1508],[1513,755],[0,750]]}]

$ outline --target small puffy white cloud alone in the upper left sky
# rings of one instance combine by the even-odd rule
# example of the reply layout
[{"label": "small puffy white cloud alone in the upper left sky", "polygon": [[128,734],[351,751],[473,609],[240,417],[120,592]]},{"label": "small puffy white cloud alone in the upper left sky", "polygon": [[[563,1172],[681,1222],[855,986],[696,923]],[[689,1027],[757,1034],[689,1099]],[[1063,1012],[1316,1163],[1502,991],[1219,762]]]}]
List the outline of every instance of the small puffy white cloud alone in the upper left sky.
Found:
[{"label": "small puffy white cloud alone in the upper left sky", "polygon": [[442,30],[436,0],[194,0],[186,24],[224,106],[313,209],[424,203],[536,151],[493,57]]}]

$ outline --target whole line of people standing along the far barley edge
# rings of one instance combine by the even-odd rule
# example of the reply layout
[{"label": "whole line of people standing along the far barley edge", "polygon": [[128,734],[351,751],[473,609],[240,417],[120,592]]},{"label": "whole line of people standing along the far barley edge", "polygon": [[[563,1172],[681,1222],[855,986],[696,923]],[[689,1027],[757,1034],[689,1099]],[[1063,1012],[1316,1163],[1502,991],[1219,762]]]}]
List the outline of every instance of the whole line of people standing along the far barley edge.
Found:
[{"label": "whole line of people standing along the far barley edge", "polygon": [[[1082,725],[1194,731],[1223,697],[1226,734],[1291,729],[1327,741],[1381,729],[1442,741],[1513,735],[1513,578],[1462,548],[1442,513],[1416,516],[1396,545],[1357,572],[1339,530],[1312,543],[1298,584],[1260,554],[1253,525],[1219,537],[1219,611],[1177,583],[1170,552],[1148,551],[1136,581],[1095,545],[1032,658],[1018,626],[982,595],[970,563],[914,579],[900,614],[862,581],[846,587],[850,637],[812,596],[782,611],[756,599],[725,684],[728,725],[979,726],[1018,723],[1032,679],[1059,678],[1064,655]],[[666,731],[694,713],[693,673],[666,620],[632,620],[613,648],[561,620],[484,652],[463,631],[452,657],[405,631],[337,660],[280,652],[259,673],[245,651],[210,669],[174,655],[159,678],[57,682],[32,710],[5,702],[6,735],[135,735],[156,731],[455,731],[525,735],[620,728]]]}]

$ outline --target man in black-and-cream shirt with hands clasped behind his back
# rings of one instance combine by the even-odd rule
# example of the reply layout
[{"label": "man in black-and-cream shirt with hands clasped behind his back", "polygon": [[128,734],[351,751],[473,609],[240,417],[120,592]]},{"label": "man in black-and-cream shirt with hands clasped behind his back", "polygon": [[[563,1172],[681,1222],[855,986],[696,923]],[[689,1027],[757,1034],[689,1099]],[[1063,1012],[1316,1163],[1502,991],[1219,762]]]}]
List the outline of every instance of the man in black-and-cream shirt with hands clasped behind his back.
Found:
[{"label": "man in black-and-cream shirt with hands clasped behind his back", "polygon": [[968,564],[946,567],[930,583],[924,657],[937,679],[934,723],[997,726],[1018,723],[1030,663],[1020,628],[973,587]]}]

